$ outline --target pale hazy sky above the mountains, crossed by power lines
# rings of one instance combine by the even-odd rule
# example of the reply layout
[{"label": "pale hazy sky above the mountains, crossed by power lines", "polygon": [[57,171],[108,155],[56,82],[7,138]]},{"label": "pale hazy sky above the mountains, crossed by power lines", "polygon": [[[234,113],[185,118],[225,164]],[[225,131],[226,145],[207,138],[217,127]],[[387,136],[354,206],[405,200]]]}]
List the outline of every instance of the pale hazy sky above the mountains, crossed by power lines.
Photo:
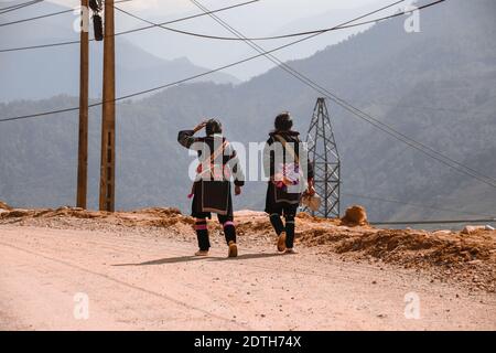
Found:
[{"label": "pale hazy sky above the mountains, crossed by power lines", "polygon": [[[48,1],[66,7],[77,7],[79,3],[79,0]],[[218,9],[246,1],[248,0],[201,0],[201,3],[208,9]],[[224,11],[218,15],[248,36],[263,36],[332,26],[391,2],[392,0],[260,0],[256,3]],[[410,1],[406,1],[406,3]],[[200,11],[190,0],[132,0],[120,3],[118,7],[155,22],[164,22]],[[142,22],[117,11],[116,28],[118,31],[142,25]],[[208,17],[174,23],[171,26],[186,31],[231,36]],[[280,58],[292,60],[310,56],[357,30],[363,29],[353,29],[348,32],[339,31],[338,33],[319,36],[282,51],[279,53]],[[216,67],[254,53],[242,42],[205,41],[177,35],[161,29],[130,34],[126,39],[157,56],[166,60],[187,57],[194,64],[204,67]],[[259,44],[265,49],[270,49],[283,43],[273,41]],[[242,66],[233,67],[227,72],[241,79],[248,79],[272,66],[271,63],[260,58]]]}]

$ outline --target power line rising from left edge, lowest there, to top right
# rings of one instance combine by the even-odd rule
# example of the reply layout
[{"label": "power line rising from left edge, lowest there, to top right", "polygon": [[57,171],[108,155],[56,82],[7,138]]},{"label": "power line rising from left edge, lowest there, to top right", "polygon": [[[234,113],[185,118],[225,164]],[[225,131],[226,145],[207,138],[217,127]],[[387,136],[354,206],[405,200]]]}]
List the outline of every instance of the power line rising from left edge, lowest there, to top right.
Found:
[{"label": "power line rising from left edge, lowest there, to top right", "polygon": [[[402,1],[403,1],[403,0],[402,0]],[[398,4],[399,2],[402,2],[402,1],[397,1],[397,2],[395,2],[395,3],[392,3],[392,4],[388,6],[388,7],[385,7],[385,8],[381,8],[381,9],[379,9],[379,10],[376,10],[376,11],[373,11],[373,12],[369,12],[369,13],[366,13],[366,14],[364,14],[364,15],[360,15],[360,17],[354,19],[354,20],[347,21],[347,22],[342,23],[342,24],[339,24],[339,25],[346,25],[347,23],[352,23],[352,22],[358,21],[358,20],[360,20],[360,19],[363,19],[363,18],[365,18],[365,17],[371,15],[371,14],[378,12],[378,11],[381,11],[381,10],[384,10],[384,9],[387,9],[387,8],[390,8],[390,7],[392,7],[392,6],[395,6],[395,4]],[[339,26],[339,25],[336,25],[336,26]],[[252,60],[255,60],[255,58],[265,56],[265,55],[268,54],[268,53],[273,53],[273,52],[280,51],[280,50],[282,50],[282,49],[289,47],[289,46],[291,46],[291,45],[294,45],[294,44],[304,42],[304,41],[310,40],[311,38],[314,38],[314,36],[316,36],[316,35],[319,35],[319,34],[312,34],[312,35],[310,35],[310,36],[305,36],[305,38],[303,38],[303,39],[299,39],[299,40],[296,40],[296,41],[293,41],[293,42],[290,42],[290,43],[287,43],[287,44],[277,46],[277,47],[274,47],[274,49],[272,49],[272,50],[270,50],[270,51],[268,51],[268,52],[265,52],[265,53],[261,53],[261,54],[257,54],[257,55],[252,55],[252,56],[246,57],[246,58],[244,58],[244,60],[239,60],[239,61],[237,61],[237,62],[234,62],[234,63],[230,63],[230,64],[227,64],[227,65],[223,65],[223,66],[216,67],[216,68],[214,68],[214,69],[207,71],[207,72],[204,72],[204,73],[201,73],[201,74],[196,74],[196,75],[193,75],[193,76],[190,76],[190,77],[186,77],[186,78],[183,78],[183,79],[173,82],[173,83],[164,84],[164,85],[157,86],[157,87],[153,87],[153,88],[149,88],[149,89],[136,92],[136,93],[133,93],[133,94],[129,94],[129,95],[126,95],[126,96],[122,96],[122,97],[118,97],[118,98],[116,98],[116,101],[117,101],[117,100],[129,99],[129,98],[137,97],[137,96],[140,96],[140,95],[149,94],[149,93],[152,93],[152,92],[155,92],[155,90],[169,88],[169,87],[171,87],[171,86],[175,86],[175,85],[179,85],[179,84],[182,84],[182,83],[192,81],[192,79],[196,79],[196,78],[200,78],[200,77],[203,77],[203,76],[207,76],[207,75],[211,75],[211,74],[213,74],[213,73],[216,73],[216,72],[219,72],[219,71],[229,68],[229,67],[234,67],[234,66],[244,64],[244,63],[246,63],[246,62],[252,61]],[[91,104],[89,107],[99,106],[99,105],[101,105],[101,104],[103,104],[103,101],[95,103],[95,104]],[[73,107],[73,108],[64,108],[64,109],[57,109],[57,110],[50,110],[50,111],[43,111],[43,113],[36,113],[36,114],[30,114],[30,115],[24,115],[24,116],[17,116],[17,117],[11,117],[11,118],[3,118],[3,119],[0,119],[0,122],[2,122],[2,121],[14,121],[14,120],[23,120],[23,119],[37,118],[37,117],[42,117],[42,116],[48,116],[48,115],[53,115],[53,114],[74,111],[74,110],[78,110],[78,109],[79,109],[78,107]]]}]

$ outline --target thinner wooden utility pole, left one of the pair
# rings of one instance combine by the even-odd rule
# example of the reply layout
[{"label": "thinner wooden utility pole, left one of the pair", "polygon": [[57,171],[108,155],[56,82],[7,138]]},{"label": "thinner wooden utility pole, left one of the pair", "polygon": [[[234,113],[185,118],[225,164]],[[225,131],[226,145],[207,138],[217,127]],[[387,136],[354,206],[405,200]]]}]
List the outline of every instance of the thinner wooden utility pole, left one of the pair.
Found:
[{"label": "thinner wooden utility pole, left one of the pair", "polygon": [[76,205],[86,208],[88,189],[88,0],[80,1],[80,58],[79,58],[79,146],[77,160]]}]

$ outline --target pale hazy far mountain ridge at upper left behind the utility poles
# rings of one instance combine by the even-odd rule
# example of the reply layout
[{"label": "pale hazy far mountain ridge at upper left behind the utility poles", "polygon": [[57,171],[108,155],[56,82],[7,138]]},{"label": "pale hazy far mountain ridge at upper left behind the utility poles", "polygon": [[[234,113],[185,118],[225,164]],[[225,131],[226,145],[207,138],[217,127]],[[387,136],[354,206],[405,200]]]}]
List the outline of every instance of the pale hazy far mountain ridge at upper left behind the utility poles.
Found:
[{"label": "pale hazy far mountain ridge at upper left behind the utility poles", "polygon": [[[0,23],[32,15],[57,12],[66,8],[44,3],[2,15]],[[33,22],[0,28],[0,49],[22,47],[57,42],[78,41],[73,25],[77,17],[69,12]],[[119,21],[120,23],[121,21]],[[118,31],[121,26],[118,28]],[[93,29],[90,29],[93,38]],[[101,95],[103,42],[90,42],[90,96]],[[158,86],[205,72],[187,58],[168,61],[157,57],[129,42],[116,39],[117,94]],[[54,95],[77,95],[79,89],[79,44],[30,51],[0,53],[0,101],[43,99]],[[228,74],[216,73],[198,78],[215,83],[238,83]]]}]

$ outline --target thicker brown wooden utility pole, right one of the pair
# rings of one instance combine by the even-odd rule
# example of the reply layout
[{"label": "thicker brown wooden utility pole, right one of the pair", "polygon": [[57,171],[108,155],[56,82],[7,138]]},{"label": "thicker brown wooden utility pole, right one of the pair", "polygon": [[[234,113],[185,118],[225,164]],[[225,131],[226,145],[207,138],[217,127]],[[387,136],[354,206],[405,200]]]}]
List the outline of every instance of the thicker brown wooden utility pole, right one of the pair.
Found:
[{"label": "thicker brown wooden utility pole, right one of the pair", "polygon": [[114,212],[116,190],[116,61],[114,0],[105,0],[100,211]]}]

